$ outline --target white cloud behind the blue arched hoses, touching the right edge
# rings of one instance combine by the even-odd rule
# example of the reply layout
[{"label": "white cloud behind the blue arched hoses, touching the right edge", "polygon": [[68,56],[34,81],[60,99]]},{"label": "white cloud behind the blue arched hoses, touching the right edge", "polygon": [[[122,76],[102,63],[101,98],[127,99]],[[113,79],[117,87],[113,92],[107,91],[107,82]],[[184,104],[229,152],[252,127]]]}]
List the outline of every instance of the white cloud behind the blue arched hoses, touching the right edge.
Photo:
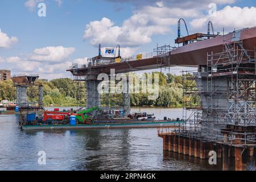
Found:
[{"label": "white cloud behind the blue arched hoses, touching the right edge", "polygon": [[217,30],[233,31],[234,28],[247,28],[256,26],[256,8],[255,7],[231,7],[226,6],[224,9],[217,11],[216,16],[205,16],[203,18],[193,19],[191,27],[194,30],[205,29],[208,21],[213,22],[213,26]]}]

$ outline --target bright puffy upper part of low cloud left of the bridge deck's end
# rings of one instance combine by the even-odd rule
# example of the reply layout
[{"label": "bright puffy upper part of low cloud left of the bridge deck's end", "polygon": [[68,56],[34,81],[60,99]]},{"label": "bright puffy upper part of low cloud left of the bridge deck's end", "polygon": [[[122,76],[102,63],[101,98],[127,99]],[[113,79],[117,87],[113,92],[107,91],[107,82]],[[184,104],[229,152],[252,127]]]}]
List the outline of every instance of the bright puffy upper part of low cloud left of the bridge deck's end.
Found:
[{"label": "bright puffy upper part of low cloud left of the bridge deck's end", "polygon": [[32,61],[43,61],[43,62],[61,62],[68,59],[76,51],[73,47],[65,48],[63,46],[58,47],[44,47],[35,49],[34,53],[28,57]]}]

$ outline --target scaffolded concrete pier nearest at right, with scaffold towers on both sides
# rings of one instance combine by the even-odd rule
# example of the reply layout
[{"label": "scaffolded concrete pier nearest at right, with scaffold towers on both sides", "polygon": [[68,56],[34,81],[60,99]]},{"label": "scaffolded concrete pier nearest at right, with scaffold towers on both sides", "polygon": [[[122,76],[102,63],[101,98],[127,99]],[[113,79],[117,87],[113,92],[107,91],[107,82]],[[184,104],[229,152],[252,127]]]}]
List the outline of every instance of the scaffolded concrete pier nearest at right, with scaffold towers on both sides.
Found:
[{"label": "scaffolded concrete pier nearest at right, with scaffold towers on both sides", "polygon": [[256,126],[255,49],[242,42],[224,43],[220,53],[208,53],[207,65],[183,71],[183,123],[179,135],[222,140],[228,125]]}]

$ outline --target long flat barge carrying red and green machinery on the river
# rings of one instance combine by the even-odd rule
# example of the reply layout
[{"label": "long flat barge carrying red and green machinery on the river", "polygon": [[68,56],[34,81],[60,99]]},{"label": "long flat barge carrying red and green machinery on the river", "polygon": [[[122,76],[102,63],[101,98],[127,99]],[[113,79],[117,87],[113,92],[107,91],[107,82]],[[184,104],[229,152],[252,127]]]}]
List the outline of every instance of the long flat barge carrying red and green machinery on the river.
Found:
[{"label": "long flat barge carrying red and green machinery on the river", "polygon": [[[117,117],[98,118],[93,116],[95,111],[101,111],[98,107],[91,107],[81,111],[44,111],[43,117],[36,113],[23,115],[19,122],[21,130],[72,130],[72,129],[119,129],[119,128],[158,128],[178,127],[183,122],[179,118],[155,121],[154,114],[135,113],[127,118]],[[94,113],[94,114],[93,114]],[[122,115],[122,112],[119,113]]]}]

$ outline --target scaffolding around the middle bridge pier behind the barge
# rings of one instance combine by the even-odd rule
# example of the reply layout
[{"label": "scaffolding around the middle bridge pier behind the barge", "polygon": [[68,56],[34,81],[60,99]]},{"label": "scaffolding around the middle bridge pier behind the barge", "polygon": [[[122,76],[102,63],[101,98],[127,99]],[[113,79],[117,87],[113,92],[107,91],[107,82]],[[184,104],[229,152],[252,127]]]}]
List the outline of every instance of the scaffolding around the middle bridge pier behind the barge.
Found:
[{"label": "scaffolding around the middle bridge pier behind the barge", "polygon": [[[101,80],[98,80],[98,75],[96,67],[100,64],[109,64],[113,61],[113,57],[94,57],[88,59],[88,65],[78,65],[73,64],[73,81],[77,86],[77,100],[81,101],[82,98],[86,98],[86,108],[99,107],[100,112],[96,113],[95,118],[127,118],[130,114],[130,94],[129,94],[129,84],[127,84],[127,92],[122,94],[111,93],[110,91],[112,84],[110,81],[106,81],[105,84],[109,84],[108,93],[99,93],[98,85]],[[86,72],[80,74],[80,68],[89,68]],[[118,75],[114,75],[118,76]],[[110,77],[110,75],[109,75]],[[117,84],[115,81],[114,86]],[[114,88],[115,89],[115,88]]]}]

